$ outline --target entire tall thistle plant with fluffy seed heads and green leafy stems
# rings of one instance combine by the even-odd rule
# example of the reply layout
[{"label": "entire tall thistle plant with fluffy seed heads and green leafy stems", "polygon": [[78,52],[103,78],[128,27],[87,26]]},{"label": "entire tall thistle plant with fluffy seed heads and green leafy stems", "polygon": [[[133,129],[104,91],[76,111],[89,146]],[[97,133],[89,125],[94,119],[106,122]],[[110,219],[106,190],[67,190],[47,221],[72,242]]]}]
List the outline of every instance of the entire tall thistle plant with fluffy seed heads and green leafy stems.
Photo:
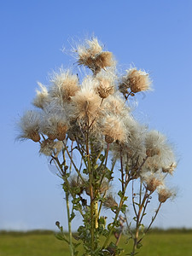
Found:
[{"label": "entire tall thistle plant with fluffy seed heads and green leafy stems", "polygon": [[[21,117],[18,138],[38,143],[39,153],[57,168],[68,227],[56,221],[56,236],[67,242],[70,255],[79,255],[79,244],[83,255],[135,255],[160,207],[174,194],[166,187],[166,177],[176,168],[172,147],[131,112],[130,99],[151,89],[148,73],[131,68],[118,76],[113,54],[96,38],[74,52],[77,66],[90,71],[79,79],[61,68],[49,87],[38,83],[35,108]],[[144,225],[152,200],[157,207]],[[74,236],[77,214],[83,224]],[[122,237],[132,240],[124,249]]]}]

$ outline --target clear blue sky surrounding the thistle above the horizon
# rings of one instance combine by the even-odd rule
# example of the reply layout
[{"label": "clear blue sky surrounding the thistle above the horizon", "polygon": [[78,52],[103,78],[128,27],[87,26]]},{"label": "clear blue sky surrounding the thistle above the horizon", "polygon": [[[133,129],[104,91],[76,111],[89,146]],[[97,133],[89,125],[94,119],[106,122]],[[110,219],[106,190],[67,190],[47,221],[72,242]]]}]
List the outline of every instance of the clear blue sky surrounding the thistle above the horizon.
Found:
[{"label": "clear blue sky surrounding the thistle above the horizon", "polygon": [[154,92],[138,97],[137,118],[166,134],[178,160],[170,181],[177,197],[163,206],[155,225],[192,228],[191,13],[187,0],[0,3],[0,230],[66,224],[61,181],[37,144],[15,143],[15,121],[31,108],[37,81],[46,84],[52,69],[75,62],[61,52],[63,45],[69,49],[73,39],[92,34],[113,51],[120,70],[134,64],[154,80]]}]

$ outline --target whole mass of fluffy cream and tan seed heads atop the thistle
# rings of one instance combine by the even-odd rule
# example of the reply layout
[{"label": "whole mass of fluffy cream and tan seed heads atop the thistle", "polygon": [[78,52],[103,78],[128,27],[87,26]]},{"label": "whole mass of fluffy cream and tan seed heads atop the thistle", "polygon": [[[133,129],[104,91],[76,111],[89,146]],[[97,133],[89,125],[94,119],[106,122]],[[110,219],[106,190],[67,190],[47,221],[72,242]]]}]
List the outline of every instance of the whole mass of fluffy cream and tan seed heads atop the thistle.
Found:
[{"label": "whole mass of fluffy cream and tan seed heads atop the thistle", "polygon": [[19,138],[32,139],[41,154],[55,156],[67,140],[84,145],[89,131],[93,151],[109,148],[132,179],[141,177],[149,191],[161,186],[159,198],[166,201],[170,193],[163,187],[164,177],[176,167],[172,147],[159,131],[140,125],[127,106],[129,96],[150,89],[148,73],[133,68],[118,78],[112,53],[104,51],[96,38],[80,45],[76,53],[79,65],[90,68],[92,75],[79,82],[77,74],[61,67],[49,87],[38,83],[33,100],[38,111],[28,111],[20,119]]}]

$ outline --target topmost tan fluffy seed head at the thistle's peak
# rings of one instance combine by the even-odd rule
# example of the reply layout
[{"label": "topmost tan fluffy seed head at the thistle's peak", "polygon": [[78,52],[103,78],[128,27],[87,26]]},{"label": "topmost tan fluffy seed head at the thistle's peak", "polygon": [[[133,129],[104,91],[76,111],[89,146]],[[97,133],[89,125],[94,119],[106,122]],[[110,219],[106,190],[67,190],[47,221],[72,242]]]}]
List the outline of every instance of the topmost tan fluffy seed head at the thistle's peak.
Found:
[{"label": "topmost tan fluffy seed head at the thistle's peak", "polygon": [[113,66],[113,55],[109,51],[102,51],[102,46],[96,38],[87,40],[85,45],[77,49],[79,65],[89,67],[96,75],[102,68]]}]

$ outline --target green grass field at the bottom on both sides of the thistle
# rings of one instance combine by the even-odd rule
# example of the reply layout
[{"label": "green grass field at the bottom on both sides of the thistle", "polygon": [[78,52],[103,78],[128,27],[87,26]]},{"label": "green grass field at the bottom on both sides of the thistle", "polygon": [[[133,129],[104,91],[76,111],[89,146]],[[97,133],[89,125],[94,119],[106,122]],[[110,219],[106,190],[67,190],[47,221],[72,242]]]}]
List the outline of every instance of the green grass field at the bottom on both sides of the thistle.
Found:
[{"label": "green grass field at the bottom on both sides of the thistle", "polygon": [[[131,247],[124,243],[120,246]],[[79,247],[80,249],[80,247]],[[130,250],[126,251],[126,253]],[[121,255],[125,255],[122,253]],[[55,238],[53,232],[0,232],[0,256],[68,256],[67,244]],[[81,253],[79,254],[81,255]],[[141,256],[191,256],[192,231],[169,230],[151,231],[143,239],[143,247],[138,255]]]}]

